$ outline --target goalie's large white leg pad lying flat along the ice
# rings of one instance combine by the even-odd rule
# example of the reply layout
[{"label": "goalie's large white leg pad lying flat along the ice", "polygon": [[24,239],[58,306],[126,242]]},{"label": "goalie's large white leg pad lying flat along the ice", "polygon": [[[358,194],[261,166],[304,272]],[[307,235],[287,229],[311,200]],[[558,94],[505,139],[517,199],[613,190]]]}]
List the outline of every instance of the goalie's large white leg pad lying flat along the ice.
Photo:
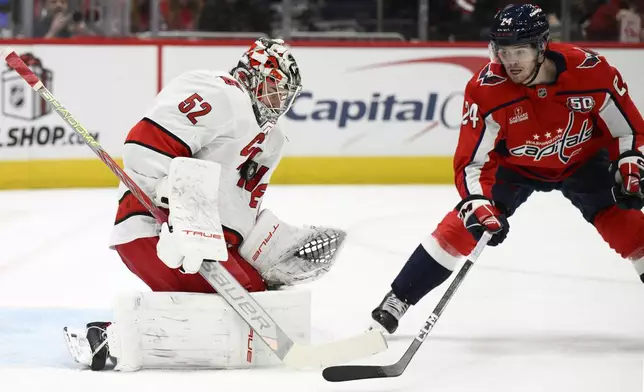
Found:
[{"label": "goalie's large white leg pad lying flat along the ice", "polygon": [[[298,343],[310,341],[305,290],[252,294]],[[136,293],[120,297],[107,329],[115,370],[249,368],[279,358],[218,295]]]}]

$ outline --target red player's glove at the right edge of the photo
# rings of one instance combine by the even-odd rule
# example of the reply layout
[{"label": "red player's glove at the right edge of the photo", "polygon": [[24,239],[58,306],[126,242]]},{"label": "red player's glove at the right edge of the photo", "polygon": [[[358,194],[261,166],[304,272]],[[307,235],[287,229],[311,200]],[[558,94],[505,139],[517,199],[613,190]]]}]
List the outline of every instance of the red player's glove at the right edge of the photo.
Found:
[{"label": "red player's glove at the right edge of the photo", "polygon": [[610,164],[609,170],[615,181],[611,188],[615,204],[625,210],[641,210],[644,207],[644,156],[639,151],[627,151]]}]

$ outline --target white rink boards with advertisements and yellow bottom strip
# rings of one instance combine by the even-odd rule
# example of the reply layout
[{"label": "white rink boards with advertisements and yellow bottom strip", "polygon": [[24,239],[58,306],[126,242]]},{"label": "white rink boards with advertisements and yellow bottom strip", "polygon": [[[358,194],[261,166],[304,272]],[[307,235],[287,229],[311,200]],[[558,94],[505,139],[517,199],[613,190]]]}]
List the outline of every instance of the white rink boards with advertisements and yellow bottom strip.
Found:
[{"label": "white rink boards with advertisements and yellow bottom strip", "polygon": [[[246,42],[7,42],[34,58],[54,95],[117,160],[159,89],[191,69],[230,69]],[[21,44],[22,43],[22,44]],[[309,44],[311,45],[311,44]],[[644,47],[598,47],[629,86]],[[286,157],[273,182],[450,183],[463,88],[487,61],[470,45],[295,44],[304,89],[281,120]],[[0,188],[112,186],[116,180],[17,75],[0,80]],[[644,91],[630,91],[644,105]]]}]

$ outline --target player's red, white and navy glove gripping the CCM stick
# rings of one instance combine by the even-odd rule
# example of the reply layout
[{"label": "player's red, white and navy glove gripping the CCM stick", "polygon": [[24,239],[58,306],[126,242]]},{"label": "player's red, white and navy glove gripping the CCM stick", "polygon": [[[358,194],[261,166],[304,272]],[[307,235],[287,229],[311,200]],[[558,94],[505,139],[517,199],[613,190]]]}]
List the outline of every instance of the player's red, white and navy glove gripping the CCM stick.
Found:
[{"label": "player's red, white and navy glove gripping the CCM stick", "polygon": [[488,198],[481,195],[470,195],[458,203],[456,210],[467,231],[472,233],[477,241],[481,239],[485,231],[492,234],[492,238],[488,242],[490,246],[497,246],[508,236],[510,230],[508,219]]}]

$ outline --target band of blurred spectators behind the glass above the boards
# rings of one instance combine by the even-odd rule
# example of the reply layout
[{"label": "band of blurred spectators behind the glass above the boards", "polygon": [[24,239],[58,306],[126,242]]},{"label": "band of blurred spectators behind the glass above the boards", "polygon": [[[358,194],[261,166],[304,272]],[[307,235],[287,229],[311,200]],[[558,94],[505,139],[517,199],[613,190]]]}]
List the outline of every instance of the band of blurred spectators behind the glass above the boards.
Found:
[{"label": "band of blurred spectators behind the glass above the boards", "polygon": [[[24,1],[0,0],[0,24],[2,16],[13,13],[19,25]],[[158,0],[158,19],[153,18],[151,0],[33,1],[32,33],[43,38],[145,34],[156,20],[161,32],[284,35],[285,12],[291,15],[290,31],[386,32],[406,40],[422,35],[419,0],[382,0],[380,8],[377,0],[290,0],[287,8],[282,0]],[[427,30],[422,33],[437,41],[486,40],[494,13],[509,2],[429,0]],[[569,20],[565,27],[573,41],[642,42],[644,0],[569,0],[564,2],[568,16],[562,15],[561,0],[536,2],[549,15],[555,40],[562,39]]]}]

